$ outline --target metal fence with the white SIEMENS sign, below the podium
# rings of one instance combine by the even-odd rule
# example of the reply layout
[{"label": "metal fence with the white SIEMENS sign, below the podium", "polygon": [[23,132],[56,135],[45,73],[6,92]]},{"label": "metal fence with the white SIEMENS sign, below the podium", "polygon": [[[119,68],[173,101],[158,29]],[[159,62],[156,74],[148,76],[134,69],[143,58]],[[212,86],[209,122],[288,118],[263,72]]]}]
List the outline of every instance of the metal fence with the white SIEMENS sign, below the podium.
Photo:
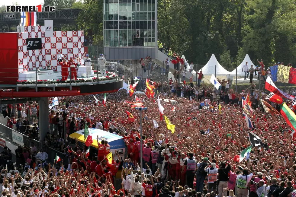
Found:
[{"label": "metal fence with the white SIEMENS sign, below the podium", "polygon": [[[34,139],[29,138],[28,136],[15,131],[14,129],[11,129],[5,125],[0,124],[0,136],[1,138],[6,139],[7,141],[13,142],[15,144],[21,144],[23,143],[27,147],[31,148],[31,143],[33,142],[34,145],[37,147],[37,149],[41,148],[40,147],[40,142]],[[15,133],[14,133],[15,132]],[[19,136],[18,139],[17,136]],[[18,143],[20,141],[20,143]]]}]

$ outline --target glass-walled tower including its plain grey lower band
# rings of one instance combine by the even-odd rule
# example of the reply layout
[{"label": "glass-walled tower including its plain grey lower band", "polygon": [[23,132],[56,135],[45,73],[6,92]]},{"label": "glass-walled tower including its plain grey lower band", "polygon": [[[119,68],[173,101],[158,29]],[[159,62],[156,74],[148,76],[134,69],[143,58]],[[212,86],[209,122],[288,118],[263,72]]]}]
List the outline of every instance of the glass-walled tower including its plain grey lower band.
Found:
[{"label": "glass-walled tower including its plain grey lower band", "polygon": [[157,0],[104,0],[106,59],[155,59],[156,47]]}]

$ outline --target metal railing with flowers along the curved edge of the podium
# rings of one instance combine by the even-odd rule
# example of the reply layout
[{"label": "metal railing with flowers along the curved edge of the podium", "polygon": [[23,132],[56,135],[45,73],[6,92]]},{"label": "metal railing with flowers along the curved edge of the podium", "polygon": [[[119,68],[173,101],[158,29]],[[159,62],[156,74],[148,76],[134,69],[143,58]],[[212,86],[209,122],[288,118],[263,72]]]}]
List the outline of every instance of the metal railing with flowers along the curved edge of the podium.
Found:
[{"label": "metal railing with flowers along the curved edge of the podium", "polygon": [[[76,67],[77,80],[71,78],[71,69],[68,69],[68,77],[66,81],[62,81],[62,71],[57,71],[57,66],[39,68],[23,69],[15,68],[15,72],[11,72],[11,68],[2,69],[2,80],[0,82],[7,83],[15,81],[18,86],[75,86],[75,85],[88,85],[88,84],[102,84],[118,81],[117,62],[108,62],[105,65],[107,75],[100,72],[100,65],[97,61],[92,61],[91,71],[89,76],[86,74],[85,66],[78,65]],[[8,71],[8,69],[10,69]],[[13,69],[13,68],[12,68]],[[17,74],[18,73],[18,74]]]}]

